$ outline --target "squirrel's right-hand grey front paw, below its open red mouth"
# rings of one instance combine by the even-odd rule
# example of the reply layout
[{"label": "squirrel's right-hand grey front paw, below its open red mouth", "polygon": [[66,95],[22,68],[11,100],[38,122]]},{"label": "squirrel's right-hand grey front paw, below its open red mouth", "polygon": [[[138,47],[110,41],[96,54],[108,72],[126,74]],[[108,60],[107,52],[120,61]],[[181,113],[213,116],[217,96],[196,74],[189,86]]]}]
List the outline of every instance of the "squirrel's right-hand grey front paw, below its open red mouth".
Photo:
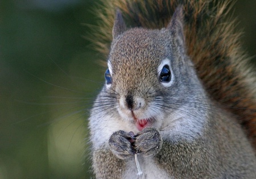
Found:
[{"label": "squirrel's right-hand grey front paw, below its open red mouth", "polygon": [[154,127],[146,127],[135,135],[135,149],[143,155],[155,155],[162,148],[163,140],[159,131]]}]

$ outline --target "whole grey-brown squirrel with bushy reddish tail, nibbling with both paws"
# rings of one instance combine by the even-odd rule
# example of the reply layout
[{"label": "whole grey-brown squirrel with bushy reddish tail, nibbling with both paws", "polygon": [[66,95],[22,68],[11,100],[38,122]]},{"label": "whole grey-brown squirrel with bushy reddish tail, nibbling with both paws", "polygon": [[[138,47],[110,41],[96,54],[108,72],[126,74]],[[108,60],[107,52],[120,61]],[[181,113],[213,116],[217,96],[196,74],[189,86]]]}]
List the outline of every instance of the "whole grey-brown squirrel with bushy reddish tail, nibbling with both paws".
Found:
[{"label": "whole grey-brown squirrel with bushy reddish tail, nibbling with both paws", "polygon": [[256,77],[231,1],[102,3],[96,44],[108,68],[89,116],[95,177],[256,178]]}]

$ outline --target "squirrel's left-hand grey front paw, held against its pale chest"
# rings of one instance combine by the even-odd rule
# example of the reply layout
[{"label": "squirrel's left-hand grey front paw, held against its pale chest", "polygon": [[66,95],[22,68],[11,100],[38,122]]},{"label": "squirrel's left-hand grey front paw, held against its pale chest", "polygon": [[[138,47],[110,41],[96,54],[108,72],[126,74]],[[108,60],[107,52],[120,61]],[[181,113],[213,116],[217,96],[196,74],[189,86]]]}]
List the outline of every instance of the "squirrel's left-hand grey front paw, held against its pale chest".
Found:
[{"label": "squirrel's left-hand grey front paw, held against its pale chest", "polygon": [[133,147],[133,143],[134,136],[121,130],[114,132],[109,139],[110,149],[119,159],[134,156],[136,151]]}]

